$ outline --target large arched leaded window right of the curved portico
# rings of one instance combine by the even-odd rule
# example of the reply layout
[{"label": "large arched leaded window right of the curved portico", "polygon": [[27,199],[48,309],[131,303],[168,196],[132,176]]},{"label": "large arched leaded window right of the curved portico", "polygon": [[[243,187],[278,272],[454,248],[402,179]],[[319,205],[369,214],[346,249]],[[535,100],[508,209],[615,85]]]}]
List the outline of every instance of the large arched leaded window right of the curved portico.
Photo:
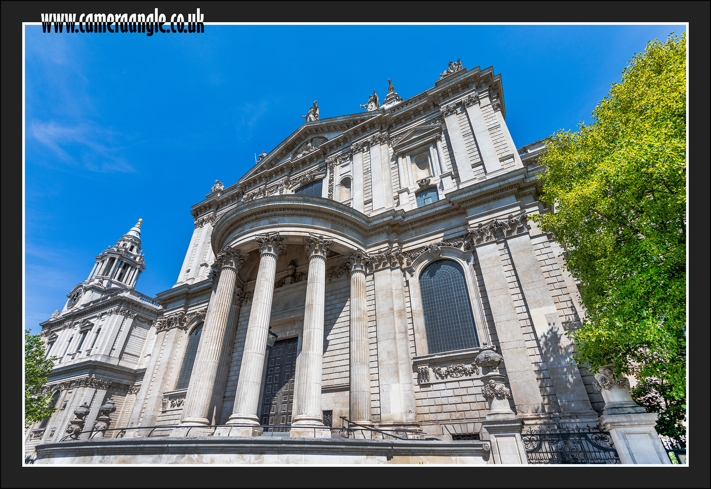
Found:
[{"label": "large arched leaded window right of the curved portico", "polygon": [[452,260],[427,265],[419,276],[430,354],[479,346],[464,269]]}]

